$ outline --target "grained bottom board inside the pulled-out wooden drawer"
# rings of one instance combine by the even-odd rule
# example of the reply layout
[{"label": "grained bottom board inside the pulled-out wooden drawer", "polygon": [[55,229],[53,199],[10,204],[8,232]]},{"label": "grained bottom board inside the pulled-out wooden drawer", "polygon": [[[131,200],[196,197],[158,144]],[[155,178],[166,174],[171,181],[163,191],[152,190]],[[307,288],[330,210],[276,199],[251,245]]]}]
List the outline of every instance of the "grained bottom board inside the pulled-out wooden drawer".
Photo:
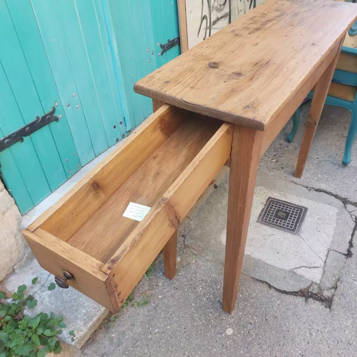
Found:
[{"label": "grained bottom board inside the pulled-out wooden drawer", "polygon": [[[211,139],[222,122],[184,122],[68,240],[72,246],[106,262],[139,224],[123,217],[129,202],[152,207]],[[209,125],[208,125],[209,124]],[[150,138],[148,139],[150,142]],[[139,143],[137,145],[140,145]]]}]

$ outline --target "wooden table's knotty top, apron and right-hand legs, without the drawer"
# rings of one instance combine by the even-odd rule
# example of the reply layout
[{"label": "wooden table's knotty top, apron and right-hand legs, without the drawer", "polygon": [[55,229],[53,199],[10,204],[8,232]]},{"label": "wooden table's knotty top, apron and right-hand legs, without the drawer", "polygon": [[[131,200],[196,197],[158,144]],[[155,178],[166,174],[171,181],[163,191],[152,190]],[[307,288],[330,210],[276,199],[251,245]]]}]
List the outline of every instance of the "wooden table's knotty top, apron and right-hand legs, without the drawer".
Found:
[{"label": "wooden table's knotty top, apron and right-hand legs, without the drawer", "polygon": [[301,177],[356,16],[357,5],[346,2],[267,0],[134,86],[154,109],[166,103],[234,123],[223,284],[228,313],[236,304],[260,157],[316,84],[295,170]]}]

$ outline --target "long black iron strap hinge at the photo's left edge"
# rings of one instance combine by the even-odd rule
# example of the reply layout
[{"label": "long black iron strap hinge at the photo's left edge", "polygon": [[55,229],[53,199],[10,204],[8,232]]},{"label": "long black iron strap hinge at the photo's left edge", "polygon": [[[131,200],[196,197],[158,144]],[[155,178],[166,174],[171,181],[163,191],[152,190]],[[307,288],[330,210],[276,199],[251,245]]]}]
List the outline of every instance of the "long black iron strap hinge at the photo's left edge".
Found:
[{"label": "long black iron strap hinge at the photo's left edge", "polygon": [[58,117],[54,116],[55,111],[56,108],[52,107],[52,109],[47,114],[42,115],[41,117],[36,116],[34,121],[31,121],[21,129],[16,130],[0,139],[0,152],[9,148],[11,145],[16,144],[16,142],[24,141],[24,136],[31,135],[33,132],[41,129],[45,125],[50,124],[52,121],[58,121]]}]

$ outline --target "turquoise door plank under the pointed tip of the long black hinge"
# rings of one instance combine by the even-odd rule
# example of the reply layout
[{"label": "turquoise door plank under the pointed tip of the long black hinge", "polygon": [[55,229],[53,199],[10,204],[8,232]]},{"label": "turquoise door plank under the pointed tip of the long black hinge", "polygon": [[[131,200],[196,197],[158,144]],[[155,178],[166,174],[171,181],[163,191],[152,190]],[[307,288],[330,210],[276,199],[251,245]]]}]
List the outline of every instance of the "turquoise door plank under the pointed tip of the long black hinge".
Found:
[{"label": "turquoise door plank under the pointed tip of the long black hinge", "polygon": [[[55,106],[55,102],[59,103],[56,107],[56,115],[61,114],[62,118],[58,122],[50,123],[49,127],[66,176],[70,178],[80,169],[80,161],[31,4],[29,1],[20,3],[16,0],[7,0],[6,2],[44,112]],[[51,189],[53,190],[52,187]]]}]

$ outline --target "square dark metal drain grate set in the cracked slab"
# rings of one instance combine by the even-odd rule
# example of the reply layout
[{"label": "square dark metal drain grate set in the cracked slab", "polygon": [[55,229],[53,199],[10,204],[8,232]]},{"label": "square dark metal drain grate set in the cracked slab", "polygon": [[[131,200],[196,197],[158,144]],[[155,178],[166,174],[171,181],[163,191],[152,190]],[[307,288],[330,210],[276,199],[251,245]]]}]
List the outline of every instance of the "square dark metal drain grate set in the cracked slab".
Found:
[{"label": "square dark metal drain grate set in the cracked slab", "polygon": [[268,197],[258,222],[288,232],[297,233],[305,218],[307,207]]}]

